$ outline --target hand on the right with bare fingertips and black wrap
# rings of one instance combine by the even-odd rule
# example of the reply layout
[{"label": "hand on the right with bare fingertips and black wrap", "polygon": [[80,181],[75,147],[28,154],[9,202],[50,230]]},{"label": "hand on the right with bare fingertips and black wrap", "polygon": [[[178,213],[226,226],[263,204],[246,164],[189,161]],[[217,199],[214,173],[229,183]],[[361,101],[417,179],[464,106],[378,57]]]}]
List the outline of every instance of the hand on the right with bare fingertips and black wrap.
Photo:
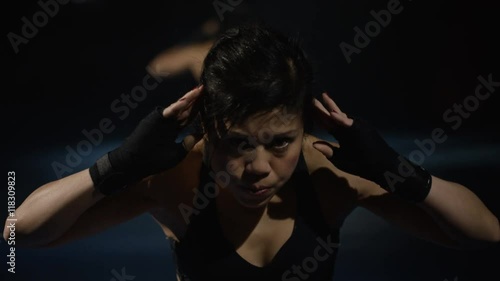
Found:
[{"label": "hand on the right with bare fingertips and black wrap", "polygon": [[429,172],[399,155],[369,122],[349,118],[326,93],[323,101],[326,108],[313,100],[314,115],[340,147],[320,140],[313,143],[317,150],[339,169],[373,181],[401,198],[411,202],[426,198],[432,184]]}]

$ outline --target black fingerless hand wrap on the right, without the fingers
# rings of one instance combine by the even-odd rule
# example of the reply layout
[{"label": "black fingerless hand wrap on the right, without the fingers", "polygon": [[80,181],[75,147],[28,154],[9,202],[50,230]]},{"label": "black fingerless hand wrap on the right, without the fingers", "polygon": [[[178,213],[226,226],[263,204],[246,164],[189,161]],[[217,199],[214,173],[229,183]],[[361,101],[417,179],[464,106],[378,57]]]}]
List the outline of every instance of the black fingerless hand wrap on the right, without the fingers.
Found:
[{"label": "black fingerless hand wrap on the right, without the fingers", "polygon": [[422,202],[429,194],[431,174],[394,151],[366,121],[355,118],[351,127],[341,127],[332,135],[340,148],[334,148],[330,161],[339,169],[413,203]]}]

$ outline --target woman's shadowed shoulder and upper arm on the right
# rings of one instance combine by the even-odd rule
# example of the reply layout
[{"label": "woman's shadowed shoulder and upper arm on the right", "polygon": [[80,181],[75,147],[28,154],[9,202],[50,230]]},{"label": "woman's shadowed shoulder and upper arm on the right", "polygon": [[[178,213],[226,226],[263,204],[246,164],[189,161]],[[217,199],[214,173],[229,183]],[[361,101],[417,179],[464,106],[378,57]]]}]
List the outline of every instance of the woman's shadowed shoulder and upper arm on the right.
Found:
[{"label": "woman's shadowed shoulder and upper arm on the right", "polygon": [[[336,168],[323,154],[315,151],[312,143],[317,140],[321,139],[308,135],[303,142],[303,152],[318,201],[330,226],[338,226],[339,220],[342,223],[355,207],[362,207],[415,237],[458,247],[422,208],[396,198],[372,181]],[[330,143],[340,147],[338,143]]]}]

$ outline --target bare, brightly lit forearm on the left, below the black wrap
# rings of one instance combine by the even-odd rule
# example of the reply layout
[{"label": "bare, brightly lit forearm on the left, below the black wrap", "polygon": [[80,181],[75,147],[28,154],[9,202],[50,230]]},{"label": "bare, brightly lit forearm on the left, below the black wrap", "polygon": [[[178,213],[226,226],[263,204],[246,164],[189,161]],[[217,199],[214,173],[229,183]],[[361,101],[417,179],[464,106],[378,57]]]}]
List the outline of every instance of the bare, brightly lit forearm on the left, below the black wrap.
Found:
[{"label": "bare, brightly lit forearm on the left, below the black wrap", "polygon": [[[58,238],[103,197],[95,191],[88,169],[41,186],[16,209],[16,243],[38,246]],[[5,223],[4,238],[11,222]]]}]

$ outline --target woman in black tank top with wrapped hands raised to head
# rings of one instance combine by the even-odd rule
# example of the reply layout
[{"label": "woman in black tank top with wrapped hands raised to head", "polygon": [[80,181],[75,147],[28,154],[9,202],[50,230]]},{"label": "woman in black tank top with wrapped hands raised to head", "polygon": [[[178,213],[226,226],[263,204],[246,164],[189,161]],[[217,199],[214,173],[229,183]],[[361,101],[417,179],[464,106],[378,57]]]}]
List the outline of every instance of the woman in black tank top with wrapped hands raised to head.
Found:
[{"label": "woman in black tank top with wrapped hands raised to head", "polygon": [[[230,29],[200,83],[89,169],[35,190],[16,212],[18,244],[59,245],[149,212],[180,280],[328,280],[357,206],[446,247],[500,240],[470,190],[397,154],[326,93],[313,99],[295,41]],[[339,143],[311,135],[313,120]],[[177,143],[188,124],[196,133]]]}]

